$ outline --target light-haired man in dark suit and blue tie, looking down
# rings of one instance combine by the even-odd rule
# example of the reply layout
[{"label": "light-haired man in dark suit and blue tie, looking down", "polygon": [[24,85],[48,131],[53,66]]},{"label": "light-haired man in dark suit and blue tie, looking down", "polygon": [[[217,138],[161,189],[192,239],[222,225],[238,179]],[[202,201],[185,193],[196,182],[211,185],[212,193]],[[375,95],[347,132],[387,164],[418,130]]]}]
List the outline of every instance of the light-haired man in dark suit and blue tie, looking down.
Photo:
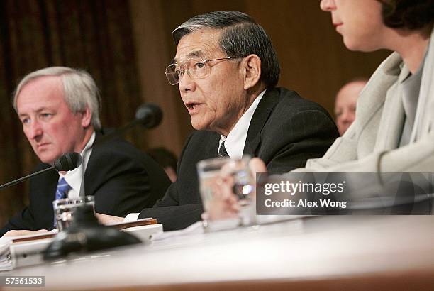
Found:
[{"label": "light-haired man in dark suit and blue tie, looking down", "polygon": [[101,97],[94,79],[83,70],[47,67],[31,72],[13,94],[13,108],[40,163],[48,168],[65,153],[82,155],[69,172],[45,172],[30,180],[29,204],[0,229],[0,236],[33,234],[55,227],[52,202],[93,195],[95,210],[126,215],[152,206],[170,181],[145,153],[121,139],[95,146],[105,136],[99,120]]}]

